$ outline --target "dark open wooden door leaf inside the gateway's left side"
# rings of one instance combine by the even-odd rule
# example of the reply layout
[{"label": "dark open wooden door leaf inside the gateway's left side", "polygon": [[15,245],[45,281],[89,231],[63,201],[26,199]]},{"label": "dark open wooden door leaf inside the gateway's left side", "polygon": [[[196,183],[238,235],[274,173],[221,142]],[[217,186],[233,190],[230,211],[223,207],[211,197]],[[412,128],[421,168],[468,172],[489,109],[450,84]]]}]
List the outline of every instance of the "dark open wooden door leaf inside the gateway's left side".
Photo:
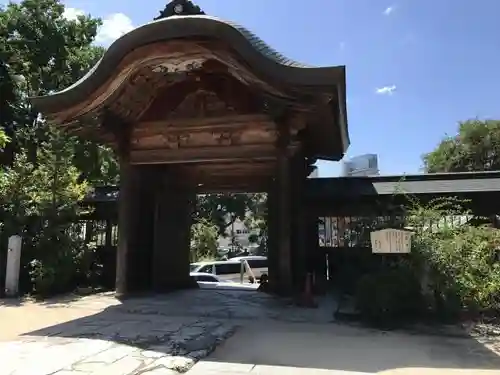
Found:
[{"label": "dark open wooden door leaf inside the gateway's left side", "polygon": [[175,166],[162,167],[162,181],[156,189],[152,289],[168,292],[196,287],[189,276],[191,220],[195,204],[194,186]]}]

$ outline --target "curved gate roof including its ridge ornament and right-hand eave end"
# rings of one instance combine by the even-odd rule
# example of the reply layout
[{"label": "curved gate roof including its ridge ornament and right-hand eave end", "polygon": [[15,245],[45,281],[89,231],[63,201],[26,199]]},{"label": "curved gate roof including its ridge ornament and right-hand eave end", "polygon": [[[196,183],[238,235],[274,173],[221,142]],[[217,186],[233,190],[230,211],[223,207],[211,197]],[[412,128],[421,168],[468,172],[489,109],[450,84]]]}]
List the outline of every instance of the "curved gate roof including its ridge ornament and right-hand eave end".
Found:
[{"label": "curved gate roof including its ridge ornament and right-hand eave end", "polygon": [[[179,5],[185,11],[178,13],[174,9]],[[32,104],[61,125],[79,122],[81,117],[90,115],[90,118],[105,109],[104,101],[109,102],[120,95],[111,94],[122,92],[125,81],[117,78],[122,72],[117,67],[123,66],[127,58],[137,64],[127,63],[129,71],[124,72],[123,77],[130,77],[134,69],[137,72],[148,59],[155,58],[153,52],[145,52],[151,56],[141,56],[134,55],[134,51],[175,40],[213,42],[214,46],[224,46],[239,68],[254,78],[253,82],[260,82],[256,84],[257,90],[266,91],[263,94],[268,98],[274,96],[278,99],[276,102],[302,103],[304,108],[314,108],[309,111],[313,126],[309,126],[312,130],[308,137],[314,144],[315,157],[339,160],[343,156],[349,146],[344,66],[312,67],[289,59],[245,27],[207,16],[187,0],[173,0],[160,13],[156,20],[111,44],[99,62],[75,84],[59,92],[30,98]],[[116,85],[109,82],[116,82]],[[101,89],[107,94],[98,94]],[[89,98],[94,95],[100,96],[91,101]]]}]

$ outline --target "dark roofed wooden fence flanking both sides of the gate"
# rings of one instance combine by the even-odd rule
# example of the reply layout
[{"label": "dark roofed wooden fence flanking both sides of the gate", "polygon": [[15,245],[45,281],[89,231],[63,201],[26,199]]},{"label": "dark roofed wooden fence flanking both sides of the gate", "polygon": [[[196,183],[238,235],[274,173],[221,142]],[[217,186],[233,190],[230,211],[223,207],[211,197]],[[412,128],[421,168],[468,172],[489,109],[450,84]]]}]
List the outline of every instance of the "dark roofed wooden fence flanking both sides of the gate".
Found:
[{"label": "dark roofed wooden fence flanking both sides of the gate", "polygon": [[[356,280],[377,266],[380,257],[371,254],[370,231],[404,226],[404,212],[398,208],[408,205],[409,197],[403,193],[420,203],[444,197],[466,202],[469,215],[444,217],[441,224],[474,220],[500,226],[500,172],[308,179],[303,186],[303,201],[295,205],[303,212],[292,215],[299,220],[291,230],[302,229],[292,233],[290,265],[295,285],[300,286],[304,272],[309,272],[320,293],[329,287],[352,292]],[[117,197],[116,186],[96,189],[86,200],[93,214],[82,218],[92,227],[86,233],[98,246],[107,287],[113,287],[115,275]],[[304,241],[303,247],[294,247],[299,240]]]}]

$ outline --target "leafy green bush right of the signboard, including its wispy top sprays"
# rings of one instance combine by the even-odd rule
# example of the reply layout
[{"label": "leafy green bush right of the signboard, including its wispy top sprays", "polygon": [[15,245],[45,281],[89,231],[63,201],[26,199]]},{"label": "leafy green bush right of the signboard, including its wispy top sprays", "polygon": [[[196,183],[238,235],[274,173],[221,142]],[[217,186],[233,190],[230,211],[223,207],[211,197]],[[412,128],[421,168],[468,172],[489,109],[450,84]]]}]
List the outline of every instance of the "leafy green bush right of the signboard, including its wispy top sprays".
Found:
[{"label": "leafy green bush right of the signboard, including its wispy top sprays", "polygon": [[424,287],[430,305],[448,316],[500,308],[500,230],[463,220],[471,216],[464,203],[438,199],[415,207],[409,216],[415,263],[428,267]]}]

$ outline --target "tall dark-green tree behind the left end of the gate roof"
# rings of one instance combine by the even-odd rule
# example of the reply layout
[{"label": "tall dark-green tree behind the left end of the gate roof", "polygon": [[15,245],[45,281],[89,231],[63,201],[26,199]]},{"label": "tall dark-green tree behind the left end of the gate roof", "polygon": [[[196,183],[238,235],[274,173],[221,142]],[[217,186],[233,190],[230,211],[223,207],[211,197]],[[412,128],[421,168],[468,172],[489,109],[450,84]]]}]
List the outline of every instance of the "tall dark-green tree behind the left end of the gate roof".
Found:
[{"label": "tall dark-green tree behind the left end of the gate roof", "polygon": [[[28,97],[64,89],[81,78],[102,56],[92,45],[101,20],[82,15],[64,18],[59,0],[23,0],[0,8],[0,83],[2,126],[12,142],[0,163],[10,165],[16,152],[25,150],[35,161],[37,148],[47,141],[47,124],[32,108]],[[4,95],[5,93],[5,95]],[[93,142],[68,137],[75,150],[80,178],[96,183],[117,181],[117,167],[110,150]]]}]

